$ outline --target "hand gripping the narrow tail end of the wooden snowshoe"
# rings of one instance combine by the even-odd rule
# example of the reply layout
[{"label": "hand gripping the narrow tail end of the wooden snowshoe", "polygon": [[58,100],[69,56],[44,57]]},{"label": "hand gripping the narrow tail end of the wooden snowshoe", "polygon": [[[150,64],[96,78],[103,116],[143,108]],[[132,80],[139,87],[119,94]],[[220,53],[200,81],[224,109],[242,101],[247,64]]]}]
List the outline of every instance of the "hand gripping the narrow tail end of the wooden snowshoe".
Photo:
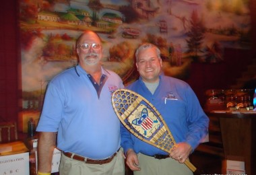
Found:
[{"label": "hand gripping the narrow tail end of the wooden snowshoe", "polygon": [[170,152],[170,157],[172,159],[179,161],[180,163],[184,163],[185,160],[189,157],[192,151],[191,145],[185,142],[177,143],[177,145]]}]

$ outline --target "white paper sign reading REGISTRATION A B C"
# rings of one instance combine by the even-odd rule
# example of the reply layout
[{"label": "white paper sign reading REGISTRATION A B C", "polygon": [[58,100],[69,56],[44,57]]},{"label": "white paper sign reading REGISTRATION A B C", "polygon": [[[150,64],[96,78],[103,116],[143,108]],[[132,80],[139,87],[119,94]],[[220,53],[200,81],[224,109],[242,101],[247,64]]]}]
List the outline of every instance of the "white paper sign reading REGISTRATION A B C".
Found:
[{"label": "white paper sign reading REGISTRATION A B C", "polygon": [[29,175],[28,152],[0,156],[0,174]]}]

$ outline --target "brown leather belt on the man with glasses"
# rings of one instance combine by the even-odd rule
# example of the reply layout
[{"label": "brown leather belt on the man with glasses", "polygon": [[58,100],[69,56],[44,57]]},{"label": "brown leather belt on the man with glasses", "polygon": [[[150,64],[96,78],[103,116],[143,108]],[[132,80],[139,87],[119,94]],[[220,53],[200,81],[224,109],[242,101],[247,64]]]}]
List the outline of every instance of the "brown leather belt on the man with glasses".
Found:
[{"label": "brown leather belt on the man with glasses", "polygon": [[[77,155],[75,153],[69,153],[69,152],[64,152],[64,151],[62,153],[64,155],[66,155],[67,157],[73,159],[73,160],[82,161],[82,162],[85,162],[86,164],[100,164],[100,165],[102,165],[102,164],[107,164],[107,163],[111,162],[113,160],[113,158],[117,155],[117,152],[115,152],[111,157],[108,157],[104,160],[92,160],[92,159],[83,157],[81,155]],[[73,155],[73,157],[72,157],[72,155]]]}]

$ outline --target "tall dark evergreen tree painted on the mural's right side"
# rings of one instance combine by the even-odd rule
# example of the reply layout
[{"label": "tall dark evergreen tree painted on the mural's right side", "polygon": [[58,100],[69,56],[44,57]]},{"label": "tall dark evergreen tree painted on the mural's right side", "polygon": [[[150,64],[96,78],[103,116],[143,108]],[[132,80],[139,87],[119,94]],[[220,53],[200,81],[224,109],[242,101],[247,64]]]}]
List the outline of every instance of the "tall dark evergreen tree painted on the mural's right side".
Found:
[{"label": "tall dark evergreen tree painted on the mural's right side", "polygon": [[201,50],[201,46],[203,43],[205,27],[195,10],[193,10],[191,14],[190,24],[189,32],[187,32],[188,39],[186,39],[188,47],[187,53],[189,53],[193,61],[198,61],[200,53],[203,52],[203,50]]}]

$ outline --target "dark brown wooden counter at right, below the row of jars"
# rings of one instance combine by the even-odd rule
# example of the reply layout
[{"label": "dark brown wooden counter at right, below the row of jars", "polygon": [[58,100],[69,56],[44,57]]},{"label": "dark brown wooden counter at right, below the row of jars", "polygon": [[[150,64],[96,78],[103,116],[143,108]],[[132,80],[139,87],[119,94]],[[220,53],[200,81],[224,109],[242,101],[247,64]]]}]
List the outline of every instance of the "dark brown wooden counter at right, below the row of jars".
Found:
[{"label": "dark brown wooden counter at right, below the row of jars", "polygon": [[[213,110],[207,116],[217,118],[224,158],[245,162],[245,173],[256,174],[256,112]],[[211,122],[211,121],[210,121]]]}]

